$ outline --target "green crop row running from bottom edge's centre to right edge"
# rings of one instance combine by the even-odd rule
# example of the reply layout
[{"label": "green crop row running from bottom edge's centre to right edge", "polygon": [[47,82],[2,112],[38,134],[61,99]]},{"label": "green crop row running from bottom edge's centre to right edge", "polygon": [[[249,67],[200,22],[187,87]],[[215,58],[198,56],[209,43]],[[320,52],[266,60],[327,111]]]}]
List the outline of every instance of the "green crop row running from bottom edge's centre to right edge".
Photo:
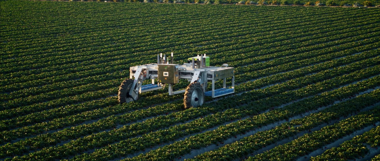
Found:
[{"label": "green crop row running from bottom edge's centre to right edge", "polygon": [[[360,109],[374,105],[377,103],[375,100],[379,99],[379,92],[379,90],[376,90],[371,93],[359,95],[345,102],[334,104],[318,113],[312,113],[301,119],[294,119],[289,122],[282,123],[274,129],[259,131],[251,136],[247,136],[239,141],[233,142],[232,144],[228,144],[216,150],[198,155],[191,160],[233,160],[238,157],[244,158],[244,156],[253,154],[256,150],[263,147],[275,144],[303,131],[309,131],[312,128],[322,125],[323,123],[331,122],[332,120],[339,119],[340,117],[347,117],[348,114],[356,113],[357,111],[360,111]],[[321,96],[317,97],[319,98],[315,100],[326,99]],[[327,158],[322,160],[327,160]]]}]

